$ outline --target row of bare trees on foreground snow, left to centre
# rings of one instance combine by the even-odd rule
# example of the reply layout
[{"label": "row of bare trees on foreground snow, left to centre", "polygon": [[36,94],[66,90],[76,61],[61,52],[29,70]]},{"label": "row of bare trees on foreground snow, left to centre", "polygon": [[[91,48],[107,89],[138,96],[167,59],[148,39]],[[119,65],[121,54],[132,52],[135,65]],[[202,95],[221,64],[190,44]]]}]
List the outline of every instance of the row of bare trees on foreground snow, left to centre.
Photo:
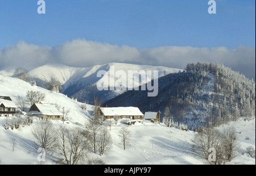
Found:
[{"label": "row of bare trees on foreground snow, left to centre", "polygon": [[[45,150],[59,150],[63,159],[59,164],[105,164],[101,159],[90,159],[88,152],[104,155],[112,148],[112,136],[104,123],[99,108],[101,101],[94,97],[92,118],[82,127],[53,126],[51,120],[39,120],[32,127],[36,146]],[[130,131],[126,127],[119,130],[120,143],[125,150],[130,144]],[[88,159],[85,161],[85,159]]]}]

